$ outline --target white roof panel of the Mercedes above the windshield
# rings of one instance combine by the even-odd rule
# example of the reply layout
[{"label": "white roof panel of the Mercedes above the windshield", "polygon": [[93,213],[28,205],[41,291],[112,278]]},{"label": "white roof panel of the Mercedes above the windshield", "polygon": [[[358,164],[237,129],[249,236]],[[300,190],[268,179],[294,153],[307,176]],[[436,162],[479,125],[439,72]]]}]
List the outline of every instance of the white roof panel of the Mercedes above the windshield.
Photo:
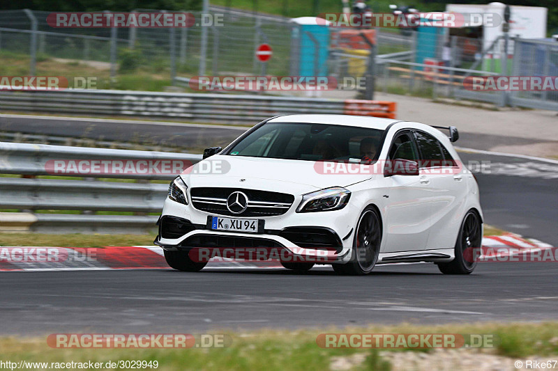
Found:
[{"label": "white roof panel of the Mercedes above the windshield", "polygon": [[351,115],[285,115],[272,118],[268,123],[310,123],[370,127],[371,129],[382,129],[401,120],[391,118],[377,118],[370,116]]}]

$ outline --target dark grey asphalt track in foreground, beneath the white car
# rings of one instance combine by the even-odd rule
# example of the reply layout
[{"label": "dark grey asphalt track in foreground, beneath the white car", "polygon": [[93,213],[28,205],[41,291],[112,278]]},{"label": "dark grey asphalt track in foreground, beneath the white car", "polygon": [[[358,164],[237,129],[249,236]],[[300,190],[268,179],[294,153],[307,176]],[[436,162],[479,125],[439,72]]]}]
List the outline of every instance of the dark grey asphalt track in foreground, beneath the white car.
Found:
[{"label": "dark grey asphalt track in foreground, beneath the white car", "polygon": [[222,329],[556,319],[558,265],[479,263],[470,276],[433,264],[368,276],[285,269],[3,272],[0,333],[195,333]]}]

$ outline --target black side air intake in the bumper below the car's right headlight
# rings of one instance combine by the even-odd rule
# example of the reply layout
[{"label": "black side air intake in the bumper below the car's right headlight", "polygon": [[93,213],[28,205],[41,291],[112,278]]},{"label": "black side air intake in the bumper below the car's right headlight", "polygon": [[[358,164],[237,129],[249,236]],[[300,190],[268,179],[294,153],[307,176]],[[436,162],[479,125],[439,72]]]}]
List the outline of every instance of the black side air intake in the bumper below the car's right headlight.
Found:
[{"label": "black side air intake in the bumper below the car's right headlight", "polygon": [[279,232],[280,237],[288,239],[296,246],[318,250],[341,251],[342,243],[333,230],[322,227],[288,227]]}]

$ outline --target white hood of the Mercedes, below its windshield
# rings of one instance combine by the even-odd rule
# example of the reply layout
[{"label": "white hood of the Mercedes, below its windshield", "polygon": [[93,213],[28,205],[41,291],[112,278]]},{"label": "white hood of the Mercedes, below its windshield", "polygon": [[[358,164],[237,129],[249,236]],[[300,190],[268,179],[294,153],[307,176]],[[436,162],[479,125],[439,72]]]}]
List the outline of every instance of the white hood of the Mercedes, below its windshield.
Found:
[{"label": "white hood of the Mercedes, below its windshield", "polygon": [[315,161],[214,155],[186,169],[188,187],[244,187],[291,194],[347,187],[370,174],[324,174]]}]

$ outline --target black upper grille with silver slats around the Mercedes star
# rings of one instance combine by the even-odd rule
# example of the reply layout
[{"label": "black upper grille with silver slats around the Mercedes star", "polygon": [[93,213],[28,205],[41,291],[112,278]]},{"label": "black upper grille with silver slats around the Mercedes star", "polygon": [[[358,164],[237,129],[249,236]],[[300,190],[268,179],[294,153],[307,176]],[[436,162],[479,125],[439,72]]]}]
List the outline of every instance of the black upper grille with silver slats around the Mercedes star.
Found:
[{"label": "black upper grille with silver slats around the Mercedes star", "polygon": [[[248,196],[248,208],[241,214],[234,214],[227,208],[227,198],[241,191]],[[197,210],[227,216],[276,216],[289,210],[294,201],[291,194],[260,191],[257,189],[200,187],[190,190],[192,205]]]}]

